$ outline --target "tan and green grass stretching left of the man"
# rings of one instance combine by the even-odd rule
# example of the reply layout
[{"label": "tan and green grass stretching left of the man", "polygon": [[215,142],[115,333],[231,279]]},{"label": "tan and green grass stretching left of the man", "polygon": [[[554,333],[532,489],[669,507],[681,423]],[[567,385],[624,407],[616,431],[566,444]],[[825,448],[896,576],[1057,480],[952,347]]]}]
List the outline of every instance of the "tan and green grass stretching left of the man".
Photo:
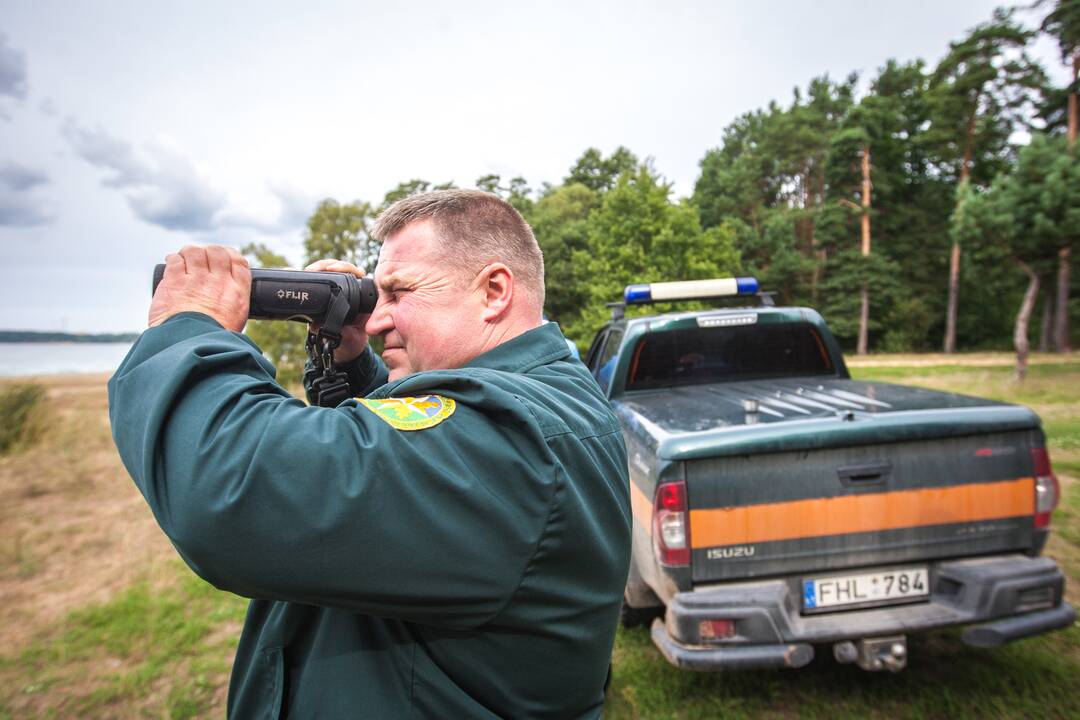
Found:
[{"label": "tan and green grass stretching left of the man", "polygon": [[[220,717],[239,620],[212,623],[200,640],[210,660],[157,657],[147,646],[171,647],[159,637],[167,623],[149,619],[183,608],[163,599],[187,587],[186,604],[213,611],[224,594],[185,586],[190,572],[112,445],[106,378],[36,381],[48,388],[48,432],[0,459],[0,718],[193,717],[178,689],[200,698],[194,715]],[[123,650],[111,652],[108,637]]]}]

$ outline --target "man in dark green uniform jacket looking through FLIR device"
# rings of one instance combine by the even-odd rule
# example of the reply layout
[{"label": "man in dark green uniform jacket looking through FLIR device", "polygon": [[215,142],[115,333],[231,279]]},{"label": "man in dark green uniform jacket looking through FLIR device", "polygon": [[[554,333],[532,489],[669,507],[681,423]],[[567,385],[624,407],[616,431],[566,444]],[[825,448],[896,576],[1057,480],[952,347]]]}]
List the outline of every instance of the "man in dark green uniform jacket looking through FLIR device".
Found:
[{"label": "man in dark green uniform jacket looking through FLIR device", "polygon": [[162,529],[253,598],[230,715],[597,717],[626,454],[541,324],[532,233],[477,191],[401,201],[376,233],[379,301],[337,352],[359,399],[309,407],[274,382],[240,335],[247,264],[224,247],[168,256],[109,381],[117,447]]}]

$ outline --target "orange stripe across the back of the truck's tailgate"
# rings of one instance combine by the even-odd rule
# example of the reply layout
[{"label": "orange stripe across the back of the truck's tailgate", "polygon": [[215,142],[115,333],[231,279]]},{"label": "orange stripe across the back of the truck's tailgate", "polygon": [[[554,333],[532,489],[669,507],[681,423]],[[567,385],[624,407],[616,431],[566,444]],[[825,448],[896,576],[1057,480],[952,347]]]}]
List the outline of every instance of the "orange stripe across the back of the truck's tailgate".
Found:
[{"label": "orange stripe across the back of the truck's tailgate", "polygon": [[[635,510],[636,514],[636,510]],[[1035,514],[1035,478],[690,511],[693,547],[843,535]]]}]

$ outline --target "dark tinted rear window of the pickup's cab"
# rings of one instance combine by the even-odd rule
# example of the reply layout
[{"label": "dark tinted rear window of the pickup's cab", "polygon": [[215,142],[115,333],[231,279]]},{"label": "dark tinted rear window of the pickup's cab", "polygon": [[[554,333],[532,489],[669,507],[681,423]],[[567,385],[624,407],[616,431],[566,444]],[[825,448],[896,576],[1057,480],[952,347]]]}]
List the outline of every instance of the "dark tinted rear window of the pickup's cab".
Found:
[{"label": "dark tinted rear window of the pickup's cab", "polygon": [[626,390],[820,375],[835,376],[836,368],[809,323],[694,327],[644,336]]}]

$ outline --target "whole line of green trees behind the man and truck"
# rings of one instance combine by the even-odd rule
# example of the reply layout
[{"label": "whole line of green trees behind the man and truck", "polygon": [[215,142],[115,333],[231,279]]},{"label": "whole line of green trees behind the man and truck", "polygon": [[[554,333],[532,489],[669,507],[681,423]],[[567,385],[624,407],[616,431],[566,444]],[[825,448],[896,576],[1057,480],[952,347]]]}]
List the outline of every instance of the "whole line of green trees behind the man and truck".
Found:
[{"label": "whole line of green trees behind the man and truck", "polygon": [[[585,150],[558,185],[487,175],[475,187],[531,225],[548,316],[579,345],[630,283],[752,274],[778,302],[819,309],[859,353],[1012,341],[1026,359],[1029,325],[1040,350],[1066,352],[1080,312],[1080,0],[1037,6],[1038,28],[997,10],[933,67],[890,59],[864,91],[856,73],[814,78],[787,103],[740,116],[705,151],[689,198],[673,198],[652,161],[623,147]],[[1071,69],[1065,87],[1030,56],[1040,33]],[[374,218],[448,187],[414,179],[378,204],[324,200],[307,223],[305,261],[370,270]],[[264,246],[245,252],[285,264]],[[286,379],[303,352],[302,328],[287,325],[251,329]]]}]

